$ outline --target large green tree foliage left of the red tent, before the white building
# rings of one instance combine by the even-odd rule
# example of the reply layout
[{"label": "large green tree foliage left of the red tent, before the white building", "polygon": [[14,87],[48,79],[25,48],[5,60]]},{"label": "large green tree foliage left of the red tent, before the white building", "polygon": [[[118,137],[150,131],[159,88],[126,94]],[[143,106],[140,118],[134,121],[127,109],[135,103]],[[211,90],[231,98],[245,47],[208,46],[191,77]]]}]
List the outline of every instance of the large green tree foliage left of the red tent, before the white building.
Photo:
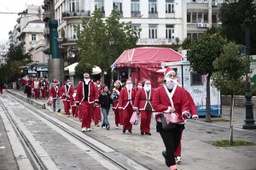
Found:
[{"label": "large green tree foliage left of the red tent, before the white building", "polygon": [[[117,59],[125,49],[135,47],[140,32],[131,26],[131,22],[119,23],[119,13],[114,10],[104,21],[98,9],[90,19],[83,19],[82,28],[76,28],[76,31],[82,59],[90,65],[98,65],[103,71],[110,71],[111,52],[113,59]],[[112,51],[109,50],[110,37],[115,39]]]}]

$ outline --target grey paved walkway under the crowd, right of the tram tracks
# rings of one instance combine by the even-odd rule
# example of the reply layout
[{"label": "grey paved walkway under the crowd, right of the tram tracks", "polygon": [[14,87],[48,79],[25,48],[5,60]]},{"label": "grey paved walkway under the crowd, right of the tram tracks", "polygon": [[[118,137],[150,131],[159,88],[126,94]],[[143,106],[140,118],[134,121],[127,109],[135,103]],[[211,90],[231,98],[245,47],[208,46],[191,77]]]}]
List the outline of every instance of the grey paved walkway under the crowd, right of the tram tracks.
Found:
[{"label": "grey paved walkway under the crowd, right of the tram tracks", "polygon": [[[11,91],[26,99],[26,96],[22,91]],[[46,99],[33,100],[41,105],[46,103]],[[61,121],[67,122],[67,124],[80,129],[80,122],[77,118],[72,116],[68,118],[65,117],[63,110],[61,113],[53,113],[49,107],[47,107],[47,110],[52,116],[55,116]],[[253,111],[255,115],[255,109]],[[230,106],[224,105],[223,116],[212,117],[212,120],[229,120],[229,112]],[[160,139],[160,134],[155,133],[154,120],[152,120],[151,125],[152,136],[142,136],[140,135],[139,126],[133,127],[132,135],[122,134],[121,129],[113,128],[113,118],[113,111],[111,111],[109,113],[109,122],[111,124],[111,129],[109,131],[102,129],[101,127],[92,127],[93,130],[88,133],[88,135],[101,140],[103,143],[108,144],[117,150],[122,150],[126,156],[131,156],[135,159],[145,161],[144,163],[146,164],[148,160],[143,158],[148,156],[152,158],[149,161],[155,161],[155,164],[161,163],[164,165],[164,159],[161,156],[161,150],[164,150],[164,144]],[[235,107],[233,120],[234,139],[246,140],[256,144],[256,130],[244,130],[241,128],[244,123],[244,119],[245,109],[242,107]],[[204,121],[205,118],[201,117],[198,121],[189,120],[186,123],[186,129],[183,132],[182,139],[183,162],[178,165],[179,170],[256,169],[256,145],[226,148],[212,146],[212,144],[210,144],[212,141],[229,139],[230,122],[207,123]],[[0,128],[0,133],[5,133],[3,132],[3,128]],[[3,139],[3,135],[0,136],[0,139],[1,138]],[[160,169],[165,169],[165,167],[160,167]]]}]

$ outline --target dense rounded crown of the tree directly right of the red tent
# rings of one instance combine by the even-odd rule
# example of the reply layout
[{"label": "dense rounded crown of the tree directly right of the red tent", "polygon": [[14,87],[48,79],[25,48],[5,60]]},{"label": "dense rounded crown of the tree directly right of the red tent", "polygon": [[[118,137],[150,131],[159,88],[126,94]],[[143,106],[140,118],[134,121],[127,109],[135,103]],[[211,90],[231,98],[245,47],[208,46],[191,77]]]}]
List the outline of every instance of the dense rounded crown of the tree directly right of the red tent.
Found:
[{"label": "dense rounded crown of the tree directly right of the red tent", "polygon": [[214,71],[212,63],[223,52],[226,43],[224,37],[219,34],[204,33],[193,40],[188,51],[193,71],[211,76]]}]

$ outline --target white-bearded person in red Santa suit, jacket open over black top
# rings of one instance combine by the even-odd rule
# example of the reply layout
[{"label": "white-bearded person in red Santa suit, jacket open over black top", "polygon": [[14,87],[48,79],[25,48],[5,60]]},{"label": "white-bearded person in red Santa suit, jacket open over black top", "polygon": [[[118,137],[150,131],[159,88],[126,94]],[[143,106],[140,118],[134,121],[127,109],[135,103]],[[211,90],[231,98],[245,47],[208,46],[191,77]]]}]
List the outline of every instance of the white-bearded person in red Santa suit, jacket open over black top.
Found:
[{"label": "white-bearded person in red Santa suit, jacket open over black top", "polygon": [[90,81],[90,75],[84,72],[84,80],[77,86],[76,104],[81,107],[79,111],[83,115],[82,132],[90,131],[91,116],[94,106],[98,105],[98,90]]}]

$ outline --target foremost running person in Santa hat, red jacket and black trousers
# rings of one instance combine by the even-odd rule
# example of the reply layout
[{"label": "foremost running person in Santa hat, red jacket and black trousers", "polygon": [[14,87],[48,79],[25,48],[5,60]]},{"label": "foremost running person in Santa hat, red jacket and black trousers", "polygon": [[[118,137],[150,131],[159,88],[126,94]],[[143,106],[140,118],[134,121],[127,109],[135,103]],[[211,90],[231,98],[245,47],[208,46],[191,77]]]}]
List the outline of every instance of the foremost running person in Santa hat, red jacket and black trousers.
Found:
[{"label": "foremost running person in Santa hat, red jacket and black trousers", "polygon": [[176,72],[171,68],[166,68],[165,79],[162,86],[154,90],[154,96],[152,100],[152,106],[156,120],[156,131],[160,133],[161,138],[166,146],[166,150],[162,152],[166,160],[166,166],[171,170],[176,170],[176,161],[174,157],[174,151],[177,150],[177,146],[181,139],[184,124],[175,124],[175,127],[164,130],[162,127],[160,116],[162,113],[176,113],[179,119],[189,118],[189,98],[185,90],[175,83],[174,78]]}]

